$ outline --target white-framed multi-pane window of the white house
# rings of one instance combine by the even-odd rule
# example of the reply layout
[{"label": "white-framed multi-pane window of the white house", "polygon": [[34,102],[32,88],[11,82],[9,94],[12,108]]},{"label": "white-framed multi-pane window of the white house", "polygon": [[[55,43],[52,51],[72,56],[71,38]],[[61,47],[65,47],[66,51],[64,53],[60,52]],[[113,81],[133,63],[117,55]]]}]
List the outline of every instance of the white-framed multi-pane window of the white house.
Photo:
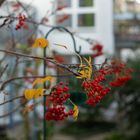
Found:
[{"label": "white-framed multi-pane window of the white house", "polygon": [[59,7],[65,7],[57,12],[55,23],[74,29],[95,27],[95,0],[57,0]]}]

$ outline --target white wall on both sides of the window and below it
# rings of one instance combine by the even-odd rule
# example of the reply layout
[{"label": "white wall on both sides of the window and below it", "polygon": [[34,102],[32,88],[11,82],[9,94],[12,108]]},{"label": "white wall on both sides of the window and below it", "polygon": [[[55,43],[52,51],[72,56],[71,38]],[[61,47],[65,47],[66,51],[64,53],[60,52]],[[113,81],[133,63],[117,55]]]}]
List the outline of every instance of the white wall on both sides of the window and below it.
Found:
[{"label": "white wall on both sides of the window and below it", "polygon": [[[9,0],[11,1],[11,0]],[[20,0],[22,2],[26,2],[28,4],[33,4],[37,10],[39,19],[41,19],[46,12],[51,10],[53,8],[53,4],[55,0]],[[84,38],[92,38],[97,41],[99,41],[101,44],[103,44],[105,52],[109,54],[114,53],[114,37],[113,37],[113,1],[112,0],[95,0],[95,8],[94,11],[96,13],[95,19],[96,19],[96,25],[95,29],[91,30],[78,30],[74,29],[78,32],[78,34]],[[74,11],[72,11],[74,12]],[[53,19],[53,18],[52,18]],[[50,24],[53,24],[53,20],[51,20]],[[42,28],[42,30],[47,32],[47,29]],[[73,51],[73,44],[71,42],[71,38],[66,34],[60,33],[57,35],[52,34],[51,35],[51,46],[55,50],[57,50],[60,53],[70,53],[70,51],[66,51],[65,49],[62,49],[58,46],[54,46],[53,43],[60,43],[66,45],[70,50]],[[85,43],[84,41],[81,41],[77,39],[77,45],[82,46],[82,54],[90,54],[90,46]]]}]

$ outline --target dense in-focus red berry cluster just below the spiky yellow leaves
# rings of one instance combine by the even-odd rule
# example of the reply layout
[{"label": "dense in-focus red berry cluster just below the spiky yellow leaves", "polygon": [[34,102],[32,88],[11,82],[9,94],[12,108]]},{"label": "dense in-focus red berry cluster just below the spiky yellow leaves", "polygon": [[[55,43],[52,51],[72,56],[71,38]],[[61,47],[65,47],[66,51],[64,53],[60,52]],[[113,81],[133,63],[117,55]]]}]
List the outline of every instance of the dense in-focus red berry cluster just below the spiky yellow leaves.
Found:
[{"label": "dense in-focus red berry cluster just below the spiky yellow leaves", "polygon": [[106,80],[105,75],[100,73],[93,80],[83,82],[82,87],[88,97],[86,101],[87,104],[92,106],[96,105],[110,91],[109,87],[105,87],[101,84],[104,80]]}]

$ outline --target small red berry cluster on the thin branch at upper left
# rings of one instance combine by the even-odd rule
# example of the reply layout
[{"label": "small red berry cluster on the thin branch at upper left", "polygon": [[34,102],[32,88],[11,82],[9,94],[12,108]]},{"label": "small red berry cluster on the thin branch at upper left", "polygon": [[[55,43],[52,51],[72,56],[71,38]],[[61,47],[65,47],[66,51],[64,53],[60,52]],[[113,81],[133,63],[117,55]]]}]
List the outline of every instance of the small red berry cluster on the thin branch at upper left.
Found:
[{"label": "small red berry cluster on the thin branch at upper left", "polygon": [[27,24],[25,23],[25,20],[26,20],[26,16],[19,14],[18,23],[16,24],[15,29],[19,30],[19,29],[21,29],[21,27],[27,28]]}]

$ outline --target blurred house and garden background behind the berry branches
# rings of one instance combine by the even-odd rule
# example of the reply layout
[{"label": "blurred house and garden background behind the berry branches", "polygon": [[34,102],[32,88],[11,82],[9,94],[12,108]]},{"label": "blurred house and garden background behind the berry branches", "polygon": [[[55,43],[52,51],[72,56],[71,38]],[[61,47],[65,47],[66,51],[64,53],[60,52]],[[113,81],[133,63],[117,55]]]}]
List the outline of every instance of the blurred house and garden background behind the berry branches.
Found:
[{"label": "blurred house and garden background behind the berry branches", "polygon": [[[2,1],[2,0],[1,0]],[[1,3],[0,1],[0,3]],[[60,10],[61,9],[61,10]],[[25,14],[30,21],[27,30],[15,30],[17,21],[0,26],[0,49],[10,49],[20,53],[41,56],[43,52],[31,49],[36,37],[45,36],[53,26],[69,29],[76,42],[80,55],[90,56],[96,43],[104,47],[104,55],[94,60],[101,64],[105,58],[117,57],[134,69],[132,80],[121,88],[112,89],[95,107],[84,104],[85,97],[81,83],[74,77],[56,77],[56,81],[69,81],[71,98],[80,109],[77,121],[71,119],[62,122],[47,122],[46,140],[139,140],[140,132],[140,0],[5,0],[0,7],[0,16],[18,16]],[[65,19],[65,20],[63,20]],[[0,25],[4,19],[0,17]],[[39,23],[39,24],[37,24]],[[44,26],[45,25],[45,26]],[[78,63],[71,36],[60,30],[54,30],[48,36],[53,56],[59,63]],[[68,50],[54,44],[67,46]],[[69,51],[70,50],[70,51]],[[23,59],[16,67],[17,58],[0,52],[0,71],[8,65],[1,81],[10,75],[42,74],[40,63]],[[47,73],[67,74],[48,64]],[[8,84],[6,91],[10,95],[0,94],[0,103],[17,95],[22,95],[25,88],[32,86],[32,81],[25,79]],[[41,100],[39,100],[41,101]],[[22,101],[0,105],[0,115],[11,110]],[[29,104],[32,104],[31,101]],[[16,110],[0,118],[0,140],[42,140],[43,106],[24,114]]]}]

